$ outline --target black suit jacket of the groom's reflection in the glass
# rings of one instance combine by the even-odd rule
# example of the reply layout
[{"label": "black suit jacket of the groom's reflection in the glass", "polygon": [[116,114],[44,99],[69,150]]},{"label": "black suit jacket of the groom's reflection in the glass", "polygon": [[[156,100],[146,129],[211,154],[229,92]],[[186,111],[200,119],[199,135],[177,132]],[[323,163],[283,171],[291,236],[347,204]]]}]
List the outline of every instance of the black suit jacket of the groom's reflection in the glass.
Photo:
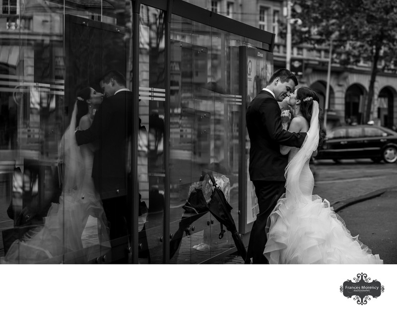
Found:
[{"label": "black suit jacket of the groom's reflection in the glass", "polygon": [[92,125],[75,133],[78,145],[95,142],[92,178],[102,199],[127,193],[127,140],[132,127],[132,92],[120,91],[105,98],[96,111]]}]

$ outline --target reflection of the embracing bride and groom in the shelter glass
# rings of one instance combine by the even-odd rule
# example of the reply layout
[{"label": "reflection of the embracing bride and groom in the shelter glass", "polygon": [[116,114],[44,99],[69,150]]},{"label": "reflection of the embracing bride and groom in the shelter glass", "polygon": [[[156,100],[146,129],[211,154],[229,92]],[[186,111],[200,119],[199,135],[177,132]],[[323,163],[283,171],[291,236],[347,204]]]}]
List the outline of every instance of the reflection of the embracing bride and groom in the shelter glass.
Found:
[{"label": "reflection of the embracing bride and groom in the shelter glass", "polygon": [[[97,218],[97,241],[103,255],[111,241],[131,235],[127,207],[127,141],[132,125],[132,92],[118,71],[77,93],[73,113],[59,144],[64,164],[63,192],[44,225],[16,240],[3,263],[84,263],[97,255],[83,250],[82,234],[91,215]],[[127,249],[126,249],[127,251]],[[128,254],[121,262],[126,262]]]}]

